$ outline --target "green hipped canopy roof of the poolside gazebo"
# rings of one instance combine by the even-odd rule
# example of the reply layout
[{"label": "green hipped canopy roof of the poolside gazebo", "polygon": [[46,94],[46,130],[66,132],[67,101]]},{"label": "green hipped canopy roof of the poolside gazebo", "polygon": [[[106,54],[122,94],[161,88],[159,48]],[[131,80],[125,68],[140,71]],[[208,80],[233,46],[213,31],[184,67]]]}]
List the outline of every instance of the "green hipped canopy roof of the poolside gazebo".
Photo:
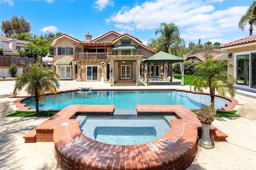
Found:
[{"label": "green hipped canopy roof of the poolside gazebo", "polygon": [[172,55],[166,53],[164,51],[160,51],[151,57],[144,59],[144,63],[180,63],[185,59],[182,57],[178,57],[176,55]]}]

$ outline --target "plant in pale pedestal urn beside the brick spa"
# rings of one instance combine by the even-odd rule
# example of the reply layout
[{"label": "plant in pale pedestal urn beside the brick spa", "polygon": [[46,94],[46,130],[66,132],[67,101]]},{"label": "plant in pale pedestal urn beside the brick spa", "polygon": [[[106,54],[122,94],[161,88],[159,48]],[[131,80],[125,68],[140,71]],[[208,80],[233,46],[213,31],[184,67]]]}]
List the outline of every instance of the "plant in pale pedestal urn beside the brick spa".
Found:
[{"label": "plant in pale pedestal urn beside the brick spa", "polygon": [[212,103],[197,111],[197,117],[202,125],[202,137],[199,140],[199,144],[206,149],[213,148],[212,140],[210,138],[210,127],[215,116],[216,108],[212,105]]}]

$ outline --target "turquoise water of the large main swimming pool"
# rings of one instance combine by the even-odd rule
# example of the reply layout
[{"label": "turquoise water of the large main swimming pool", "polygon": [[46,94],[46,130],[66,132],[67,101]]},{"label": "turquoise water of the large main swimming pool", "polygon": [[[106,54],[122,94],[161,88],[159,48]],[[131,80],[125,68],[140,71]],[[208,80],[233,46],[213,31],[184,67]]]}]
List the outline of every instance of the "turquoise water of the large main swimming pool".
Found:
[{"label": "turquoise water of the large main swimming pool", "polygon": [[[35,108],[35,100],[30,97],[21,103]],[[230,101],[215,97],[215,107],[221,109]],[[47,95],[40,101],[39,109],[64,109],[68,105],[115,105],[116,109],[135,109],[136,105],[183,105],[188,109],[200,109],[210,104],[210,95],[184,91],[74,91]]]}]

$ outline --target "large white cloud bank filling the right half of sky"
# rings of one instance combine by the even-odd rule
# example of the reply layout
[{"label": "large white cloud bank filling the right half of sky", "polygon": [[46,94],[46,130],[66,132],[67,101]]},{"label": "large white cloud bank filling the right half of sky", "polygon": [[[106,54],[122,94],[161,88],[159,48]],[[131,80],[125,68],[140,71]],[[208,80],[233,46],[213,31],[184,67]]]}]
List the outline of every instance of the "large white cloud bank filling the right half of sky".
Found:
[{"label": "large white cloud bank filling the right half of sky", "polygon": [[[105,20],[122,30],[152,30],[162,22],[180,26],[181,37],[187,42],[219,39],[238,31],[237,24],[248,6],[228,6],[224,10],[215,8],[214,1],[145,1],[133,7],[123,6],[117,13]],[[220,42],[222,43],[222,42]],[[223,42],[224,43],[224,42]]]}]

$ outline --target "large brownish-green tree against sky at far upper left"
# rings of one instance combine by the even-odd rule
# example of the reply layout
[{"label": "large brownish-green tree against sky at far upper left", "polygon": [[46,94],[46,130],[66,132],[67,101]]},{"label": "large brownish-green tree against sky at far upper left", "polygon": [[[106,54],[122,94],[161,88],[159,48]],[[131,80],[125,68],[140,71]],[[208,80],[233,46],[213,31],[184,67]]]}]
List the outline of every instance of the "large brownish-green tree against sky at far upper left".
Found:
[{"label": "large brownish-green tree against sky at far upper left", "polygon": [[11,37],[15,33],[30,32],[30,23],[27,22],[23,16],[18,18],[17,16],[12,16],[11,20],[2,21],[1,30],[6,37]]}]

